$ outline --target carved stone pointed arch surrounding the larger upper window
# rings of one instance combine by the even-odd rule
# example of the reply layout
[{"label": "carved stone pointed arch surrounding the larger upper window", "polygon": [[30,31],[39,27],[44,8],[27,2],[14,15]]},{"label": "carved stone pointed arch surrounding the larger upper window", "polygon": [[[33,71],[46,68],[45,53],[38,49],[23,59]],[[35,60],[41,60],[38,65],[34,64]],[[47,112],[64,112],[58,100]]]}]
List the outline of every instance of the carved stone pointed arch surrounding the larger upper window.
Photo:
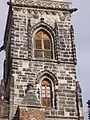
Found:
[{"label": "carved stone pointed arch surrounding the larger upper window", "polygon": [[48,25],[47,23],[45,23],[42,20],[39,23],[37,23],[36,25],[34,25],[31,29],[31,31],[30,31],[31,42],[32,42],[32,47],[31,48],[32,49],[29,50],[29,53],[31,53],[31,51],[32,51],[32,57],[34,58],[34,46],[35,46],[34,36],[40,30],[45,31],[50,36],[50,38],[51,38],[51,48],[52,48],[52,58],[55,59],[55,52],[54,52],[55,51],[54,50],[55,32],[54,32],[54,29],[50,25]]}]

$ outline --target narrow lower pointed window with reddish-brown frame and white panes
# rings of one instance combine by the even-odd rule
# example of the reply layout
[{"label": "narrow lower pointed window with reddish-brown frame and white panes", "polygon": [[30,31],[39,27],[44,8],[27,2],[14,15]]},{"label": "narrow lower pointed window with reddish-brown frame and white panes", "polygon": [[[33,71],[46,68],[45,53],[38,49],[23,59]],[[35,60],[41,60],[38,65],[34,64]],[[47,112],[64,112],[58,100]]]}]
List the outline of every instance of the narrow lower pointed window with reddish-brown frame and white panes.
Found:
[{"label": "narrow lower pointed window with reddish-brown frame and white panes", "polygon": [[48,79],[44,79],[41,84],[41,103],[42,106],[51,108],[52,104],[52,85]]}]

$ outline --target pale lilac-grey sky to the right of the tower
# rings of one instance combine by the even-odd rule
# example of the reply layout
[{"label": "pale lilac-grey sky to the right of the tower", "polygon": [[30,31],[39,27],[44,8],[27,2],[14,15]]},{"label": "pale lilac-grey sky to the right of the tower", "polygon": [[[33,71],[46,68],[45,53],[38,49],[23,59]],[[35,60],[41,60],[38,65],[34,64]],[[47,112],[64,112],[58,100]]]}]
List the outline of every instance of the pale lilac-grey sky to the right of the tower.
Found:
[{"label": "pale lilac-grey sky to the right of the tower", "polygon": [[77,76],[84,98],[84,115],[87,118],[87,100],[90,99],[90,0],[72,0],[78,11],[73,14],[77,48]]}]

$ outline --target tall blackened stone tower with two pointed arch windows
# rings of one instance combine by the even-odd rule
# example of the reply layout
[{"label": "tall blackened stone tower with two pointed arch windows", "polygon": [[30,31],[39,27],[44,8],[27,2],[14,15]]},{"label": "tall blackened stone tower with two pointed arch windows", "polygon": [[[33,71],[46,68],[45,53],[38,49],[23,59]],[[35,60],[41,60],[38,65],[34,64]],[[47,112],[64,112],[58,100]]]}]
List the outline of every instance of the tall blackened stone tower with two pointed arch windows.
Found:
[{"label": "tall blackened stone tower with two pointed arch windows", "polygon": [[77,9],[53,0],[10,0],[8,5],[4,79],[9,120],[19,105],[35,107],[35,101],[45,107],[45,120],[83,120],[71,24]]}]

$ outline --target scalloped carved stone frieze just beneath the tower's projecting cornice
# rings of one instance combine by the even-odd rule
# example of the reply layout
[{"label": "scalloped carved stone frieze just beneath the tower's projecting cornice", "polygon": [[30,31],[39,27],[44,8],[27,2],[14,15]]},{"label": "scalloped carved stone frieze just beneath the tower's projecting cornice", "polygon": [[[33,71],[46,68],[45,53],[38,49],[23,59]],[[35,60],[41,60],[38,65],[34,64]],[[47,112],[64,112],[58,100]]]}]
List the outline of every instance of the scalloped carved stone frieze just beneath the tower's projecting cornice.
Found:
[{"label": "scalloped carved stone frieze just beneath the tower's projecting cornice", "polygon": [[56,11],[56,10],[41,10],[41,9],[38,9],[38,10],[33,10],[33,9],[21,9],[20,7],[14,7],[14,10],[17,11],[17,12],[22,12],[22,13],[28,13],[30,14],[30,17],[31,18],[34,18],[34,19],[38,19],[39,18],[39,15],[43,15],[44,13],[46,15],[53,15],[54,17],[56,15],[59,16],[60,20],[61,21],[65,21],[65,19],[67,18],[67,21],[70,21],[70,18],[71,18],[71,14],[68,12],[68,11],[62,11],[62,12],[59,12],[59,11]]}]

